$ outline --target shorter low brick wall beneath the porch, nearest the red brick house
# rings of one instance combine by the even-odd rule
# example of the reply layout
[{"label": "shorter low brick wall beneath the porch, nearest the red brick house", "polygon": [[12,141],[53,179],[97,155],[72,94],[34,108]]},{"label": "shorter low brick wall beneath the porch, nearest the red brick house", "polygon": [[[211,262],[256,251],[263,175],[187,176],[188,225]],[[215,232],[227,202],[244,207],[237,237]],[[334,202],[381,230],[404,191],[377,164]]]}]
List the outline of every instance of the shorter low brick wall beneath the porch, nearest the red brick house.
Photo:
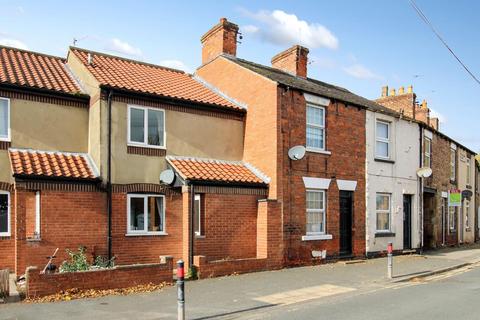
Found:
[{"label": "shorter low brick wall beneath the porch, nearest the red brick house", "polygon": [[275,264],[267,258],[207,261],[205,256],[195,256],[193,264],[197,267],[197,274],[200,279],[274,270],[282,267],[280,264]]}]

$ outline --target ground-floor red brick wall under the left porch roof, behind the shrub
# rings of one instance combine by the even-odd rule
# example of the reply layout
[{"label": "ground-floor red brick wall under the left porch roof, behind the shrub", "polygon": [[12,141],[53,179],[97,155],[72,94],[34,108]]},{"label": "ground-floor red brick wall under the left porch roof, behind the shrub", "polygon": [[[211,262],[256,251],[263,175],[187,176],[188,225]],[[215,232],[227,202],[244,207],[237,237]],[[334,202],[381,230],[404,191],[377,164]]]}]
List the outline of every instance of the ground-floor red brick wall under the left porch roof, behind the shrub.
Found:
[{"label": "ground-floor red brick wall under the left porch roof, behind the shrub", "polygon": [[54,264],[59,266],[68,258],[66,249],[86,246],[90,259],[107,254],[107,214],[102,192],[41,191],[39,241],[27,239],[27,216],[31,216],[31,190],[15,191],[17,214],[16,273],[21,275],[27,266],[43,268],[59,248]]}]

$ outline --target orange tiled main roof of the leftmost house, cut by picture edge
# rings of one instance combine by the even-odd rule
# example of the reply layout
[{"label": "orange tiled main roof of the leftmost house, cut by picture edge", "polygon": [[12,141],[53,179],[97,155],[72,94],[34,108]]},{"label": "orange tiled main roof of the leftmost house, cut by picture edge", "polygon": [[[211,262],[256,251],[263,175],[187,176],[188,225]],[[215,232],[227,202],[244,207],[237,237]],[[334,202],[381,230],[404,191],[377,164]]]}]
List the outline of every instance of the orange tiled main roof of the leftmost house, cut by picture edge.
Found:
[{"label": "orange tiled main roof of the leftmost house, cut by picture edge", "polygon": [[0,83],[78,94],[66,60],[36,52],[0,46]]}]

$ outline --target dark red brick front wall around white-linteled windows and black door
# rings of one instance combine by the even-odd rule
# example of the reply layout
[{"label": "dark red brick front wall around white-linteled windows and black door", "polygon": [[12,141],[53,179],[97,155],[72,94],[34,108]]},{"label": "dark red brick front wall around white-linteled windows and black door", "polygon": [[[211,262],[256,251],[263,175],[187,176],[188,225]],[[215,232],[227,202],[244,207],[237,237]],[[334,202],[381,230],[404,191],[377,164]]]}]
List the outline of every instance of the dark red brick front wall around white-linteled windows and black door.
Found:
[{"label": "dark red brick front wall around white-linteled windows and black door", "polygon": [[[357,181],[352,226],[353,254],[365,254],[365,110],[331,102],[326,108],[326,149],[331,155],[307,152],[304,159],[290,162],[288,149],[306,143],[306,102],[295,90],[279,89],[282,114],[283,213],[288,264],[315,263],[312,250],[339,252],[339,190],[335,179],[327,190],[326,233],[332,240],[302,241],[306,234],[305,186],[302,177],[337,178]],[[290,170],[291,164],[291,170]],[[291,178],[289,175],[291,174]],[[291,179],[291,183],[289,180]],[[280,180],[280,179],[279,179]],[[291,195],[291,198],[290,196]]]}]

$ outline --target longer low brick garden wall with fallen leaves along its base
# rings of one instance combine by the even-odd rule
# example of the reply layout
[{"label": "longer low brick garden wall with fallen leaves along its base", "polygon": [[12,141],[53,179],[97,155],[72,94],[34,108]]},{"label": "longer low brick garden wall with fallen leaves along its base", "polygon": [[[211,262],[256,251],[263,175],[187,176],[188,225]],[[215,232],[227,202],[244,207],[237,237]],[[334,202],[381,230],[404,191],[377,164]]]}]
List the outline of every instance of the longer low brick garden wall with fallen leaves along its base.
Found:
[{"label": "longer low brick garden wall with fallen leaves along its base", "polygon": [[37,267],[27,268],[27,298],[38,298],[68,289],[119,289],[143,284],[173,282],[173,258],[162,263],[117,266],[112,269],[40,274]]}]

